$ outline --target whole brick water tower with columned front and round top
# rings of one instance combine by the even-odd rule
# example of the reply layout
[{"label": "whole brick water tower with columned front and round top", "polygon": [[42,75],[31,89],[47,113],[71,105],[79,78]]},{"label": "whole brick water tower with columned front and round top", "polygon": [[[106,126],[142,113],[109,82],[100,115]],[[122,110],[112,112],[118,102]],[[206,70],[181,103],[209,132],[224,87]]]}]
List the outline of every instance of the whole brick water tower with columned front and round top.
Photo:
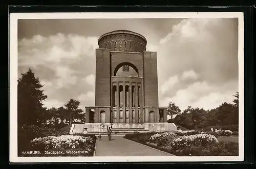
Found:
[{"label": "whole brick water tower with columned front and round top", "polygon": [[157,52],[146,51],[146,43],[142,35],[126,30],[100,36],[95,106],[86,107],[86,124],[131,128],[167,123],[167,108],[158,105]]}]

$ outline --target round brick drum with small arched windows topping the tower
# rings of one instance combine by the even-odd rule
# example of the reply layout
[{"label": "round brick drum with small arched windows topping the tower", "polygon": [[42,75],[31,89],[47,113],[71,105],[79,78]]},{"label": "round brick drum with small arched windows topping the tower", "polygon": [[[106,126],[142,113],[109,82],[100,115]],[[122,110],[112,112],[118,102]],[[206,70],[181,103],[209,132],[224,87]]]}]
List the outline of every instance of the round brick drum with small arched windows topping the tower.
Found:
[{"label": "round brick drum with small arched windows topping the tower", "polygon": [[127,30],[109,32],[98,39],[99,48],[112,51],[143,52],[146,50],[146,43],[144,36]]}]

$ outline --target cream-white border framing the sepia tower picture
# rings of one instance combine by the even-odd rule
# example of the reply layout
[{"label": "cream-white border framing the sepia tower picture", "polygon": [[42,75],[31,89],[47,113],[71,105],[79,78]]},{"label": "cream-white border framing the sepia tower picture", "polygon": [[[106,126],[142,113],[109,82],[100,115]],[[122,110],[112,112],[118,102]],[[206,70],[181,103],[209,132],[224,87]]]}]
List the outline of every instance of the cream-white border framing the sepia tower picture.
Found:
[{"label": "cream-white border framing the sepia tower picture", "polygon": [[[17,156],[17,21],[18,19],[127,19],[127,18],[238,18],[239,19],[239,156],[123,156],[123,157],[18,157]],[[192,161],[243,161],[244,160],[244,16],[239,12],[212,13],[11,13],[10,23],[10,162],[192,162]]]}]

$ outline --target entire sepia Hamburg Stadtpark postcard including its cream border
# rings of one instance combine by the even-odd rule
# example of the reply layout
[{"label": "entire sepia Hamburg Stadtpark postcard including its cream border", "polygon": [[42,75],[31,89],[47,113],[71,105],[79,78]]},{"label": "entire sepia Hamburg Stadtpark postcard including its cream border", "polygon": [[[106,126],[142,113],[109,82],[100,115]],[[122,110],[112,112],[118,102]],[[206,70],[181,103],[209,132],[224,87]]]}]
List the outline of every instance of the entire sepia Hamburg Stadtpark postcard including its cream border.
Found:
[{"label": "entire sepia Hamburg Stadtpark postcard including its cream border", "polygon": [[10,161],[243,161],[243,13],[12,13]]}]

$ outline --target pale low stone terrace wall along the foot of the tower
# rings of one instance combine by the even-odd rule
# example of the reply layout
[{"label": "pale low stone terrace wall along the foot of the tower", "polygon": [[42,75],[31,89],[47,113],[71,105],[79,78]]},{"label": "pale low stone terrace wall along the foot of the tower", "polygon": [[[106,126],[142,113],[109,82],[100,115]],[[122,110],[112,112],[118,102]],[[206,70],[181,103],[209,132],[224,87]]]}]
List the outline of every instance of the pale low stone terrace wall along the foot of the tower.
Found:
[{"label": "pale low stone terrace wall along the foot of the tower", "polygon": [[[111,126],[110,123],[84,123],[72,124],[70,133],[82,133],[87,128],[89,133],[105,133]],[[152,131],[177,131],[174,123],[112,123],[113,129],[141,129],[146,132]]]}]

